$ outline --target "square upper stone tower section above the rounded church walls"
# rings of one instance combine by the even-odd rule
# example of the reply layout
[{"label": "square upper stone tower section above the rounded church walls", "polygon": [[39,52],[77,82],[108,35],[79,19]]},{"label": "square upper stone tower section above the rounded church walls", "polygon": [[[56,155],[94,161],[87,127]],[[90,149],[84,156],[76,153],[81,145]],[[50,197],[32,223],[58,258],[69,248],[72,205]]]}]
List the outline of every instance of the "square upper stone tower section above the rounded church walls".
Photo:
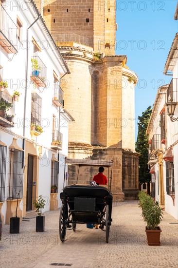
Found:
[{"label": "square upper stone tower section above the rounded church walls", "polygon": [[56,41],[78,40],[95,52],[115,55],[115,4],[116,0],[48,0],[43,16]]}]

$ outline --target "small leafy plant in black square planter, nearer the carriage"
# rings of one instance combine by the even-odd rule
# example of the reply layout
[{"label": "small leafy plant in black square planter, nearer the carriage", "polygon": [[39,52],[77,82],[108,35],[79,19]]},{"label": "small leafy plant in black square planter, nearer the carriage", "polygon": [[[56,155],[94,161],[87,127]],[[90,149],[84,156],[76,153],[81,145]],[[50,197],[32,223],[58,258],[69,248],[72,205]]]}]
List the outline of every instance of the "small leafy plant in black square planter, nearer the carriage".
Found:
[{"label": "small leafy plant in black square planter, nearer the carriage", "polygon": [[39,195],[38,201],[34,200],[33,204],[36,208],[38,216],[36,216],[36,232],[44,232],[45,228],[45,217],[41,215],[42,209],[45,206],[45,200],[42,198],[42,195]]}]

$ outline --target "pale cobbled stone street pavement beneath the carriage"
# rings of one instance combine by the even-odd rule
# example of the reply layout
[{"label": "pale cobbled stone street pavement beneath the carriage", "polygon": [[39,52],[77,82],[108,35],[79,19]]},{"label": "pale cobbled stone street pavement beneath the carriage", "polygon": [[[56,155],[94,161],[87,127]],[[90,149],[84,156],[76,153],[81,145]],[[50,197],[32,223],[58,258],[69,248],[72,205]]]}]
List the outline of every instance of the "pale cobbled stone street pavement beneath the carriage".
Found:
[{"label": "pale cobbled stone street pavement beneath the carriage", "polygon": [[[178,221],[164,212],[161,246],[148,246],[138,201],[113,204],[109,243],[105,232],[77,225],[61,243],[59,210],[45,215],[45,232],[35,231],[36,219],[22,221],[19,234],[3,226],[0,268],[178,268]],[[59,267],[57,266],[57,267]]]}]

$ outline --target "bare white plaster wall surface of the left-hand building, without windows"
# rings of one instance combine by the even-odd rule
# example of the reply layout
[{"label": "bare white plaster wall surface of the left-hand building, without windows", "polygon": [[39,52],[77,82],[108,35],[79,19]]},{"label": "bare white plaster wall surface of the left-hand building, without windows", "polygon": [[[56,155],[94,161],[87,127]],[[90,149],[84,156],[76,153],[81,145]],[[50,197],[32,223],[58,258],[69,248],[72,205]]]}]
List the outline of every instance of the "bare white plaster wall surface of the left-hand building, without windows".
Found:
[{"label": "bare white plaster wall surface of the left-hand building, without windows", "polygon": [[[18,146],[22,148],[22,137],[23,137],[23,117],[24,117],[24,96],[25,96],[25,68],[26,68],[26,55],[28,52],[28,73],[27,73],[27,101],[26,101],[26,121],[25,121],[25,134],[26,140],[31,140],[30,133],[30,122],[31,122],[31,99],[32,93],[36,93],[42,98],[42,108],[41,108],[41,126],[43,128],[43,133],[35,138],[34,147],[40,145],[42,148],[42,154],[39,155],[39,167],[38,167],[38,191],[36,195],[43,195],[43,198],[47,200],[47,204],[43,211],[50,210],[50,192],[51,192],[51,159],[52,155],[57,158],[57,151],[51,149],[52,133],[53,133],[53,116],[59,119],[59,108],[53,105],[53,70],[58,75],[58,77],[63,76],[66,69],[62,65],[62,61],[59,59],[57,53],[55,52],[53,46],[51,45],[49,38],[45,34],[44,30],[41,29],[41,22],[37,21],[29,29],[29,47],[28,50],[25,49],[25,40],[27,39],[27,27],[36,19],[34,19],[34,14],[31,10],[23,9],[19,6],[17,8],[17,1],[14,2],[14,7],[12,8],[6,1],[4,6],[6,6],[6,11],[8,12],[11,19],[16,23],[17,16],[21,19],[23,23],[22,27],[22,42],[17,41],[18,53],[17,55],[8,54],[1,47],[0,49],[0,75],[3,80],[8,82],[8,92],[13,95],[15,90],[20,92],[18,102],[15,102],[15,118],[14,127],[7,128],[7,131],[0,127],[0,140],[7,145],[7,159],[9,157],[9,146],[12,143],[13,137],[18,137]],[[19,1],[18,1],[19,2]],[[31,81],[31,57],[34,56],[34,44],[32,43],[32,37],[34,37],[41,47],[41,52],[37,55],[43,61],[47,67],[47,88],[39,88],[34,82]],[[48,49],[43,49],[42,42],[48,40]],[[24,42],[23,42],[24,41]],[[14,57],[13,57],[14,56]],[[11,61],[8,61],[8,57],[13,57]],[[59,120],[58,120],[59,121]],[[60,193],[63,189],[63,177],[64,177],[64,167],[62,159],[68,155],[68,131],[69,131],[69,119],[65,115],[60,115],[60,128],[59,124],[56,125],[56,130],[63,134],[63,147],[62,151],[59,151],[59,189]],[[26,149],[25,149],[26,150]],[[26,152],[26,151],[25,151]],[[28,153],[28,152],[27,152]],[[37,156],[38,157],[38,156]],[[67,168],[66,168],[67,172]],[[5,181],[5,202],[2,206],[1,212],[4,215],[5,223],[5,213],[6,213],[6,199],[7,191],[9,185],[9,162],[6,164],[6,181]],[[59,194],[58,194],[59,200]],[[60,200],[59,200],[60,201]],[[61,203],[59,202],[58,206]],[[23,204],[20,204],[20,209],[22,210]],[[24,216],[24,215],[23,215]]]}]

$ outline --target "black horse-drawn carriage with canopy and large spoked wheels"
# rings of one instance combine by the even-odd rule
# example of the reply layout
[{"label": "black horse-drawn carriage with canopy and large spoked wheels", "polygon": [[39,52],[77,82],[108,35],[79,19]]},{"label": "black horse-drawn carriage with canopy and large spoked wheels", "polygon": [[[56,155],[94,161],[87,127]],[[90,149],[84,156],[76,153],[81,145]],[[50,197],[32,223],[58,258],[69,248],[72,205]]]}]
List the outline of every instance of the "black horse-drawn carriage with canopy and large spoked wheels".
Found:
[{"label": "black horse-drawn carriage with canopy and large spoked wheels", "polygon": [[[77,165],[78,174],[81,166],[107,167],[109,174],[109,167],[112,167],[113,161],[65,158],[65,165],[66,163]],[[111,176],[110,178],[108,176],[108,188],[77,183],[64,187],[63,192],[60,193],[62,207],[59,216],[59,236],[62,242],[65,240],[66,230],[75,231],[76,224],[98,224],[99,228],[106,232],[106,242],[108,243],[112,222],[111,180]]]}]

